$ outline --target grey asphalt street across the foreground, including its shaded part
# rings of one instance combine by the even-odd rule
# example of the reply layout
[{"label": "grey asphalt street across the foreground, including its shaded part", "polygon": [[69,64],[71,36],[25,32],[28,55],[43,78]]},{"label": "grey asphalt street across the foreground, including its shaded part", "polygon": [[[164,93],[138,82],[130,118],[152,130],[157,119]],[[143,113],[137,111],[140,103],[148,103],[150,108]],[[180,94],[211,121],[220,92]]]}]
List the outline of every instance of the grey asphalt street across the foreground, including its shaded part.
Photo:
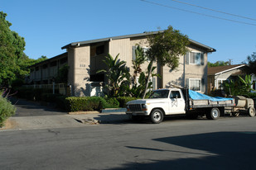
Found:
[{"label": "grey asphalt street across the foreground, including its shaded part", "polygon": [[256,169],[249,116],[0,130],[0,139],[0,169]]}]

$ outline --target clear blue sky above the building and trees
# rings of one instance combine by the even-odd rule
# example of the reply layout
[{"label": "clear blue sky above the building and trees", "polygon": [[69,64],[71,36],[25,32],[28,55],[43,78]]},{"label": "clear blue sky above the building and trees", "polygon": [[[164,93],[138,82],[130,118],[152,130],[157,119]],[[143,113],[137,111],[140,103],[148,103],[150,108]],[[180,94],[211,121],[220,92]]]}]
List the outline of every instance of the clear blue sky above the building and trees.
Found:
[{"label": "clear blue sky above the building and trees", "polygon": [[241,64],[256,51],[255,7],[255,0],[0,0],[0,11],[25,38],[31,59],[50,59],[76,41],[173,26],[214,48],[211,63]]}]

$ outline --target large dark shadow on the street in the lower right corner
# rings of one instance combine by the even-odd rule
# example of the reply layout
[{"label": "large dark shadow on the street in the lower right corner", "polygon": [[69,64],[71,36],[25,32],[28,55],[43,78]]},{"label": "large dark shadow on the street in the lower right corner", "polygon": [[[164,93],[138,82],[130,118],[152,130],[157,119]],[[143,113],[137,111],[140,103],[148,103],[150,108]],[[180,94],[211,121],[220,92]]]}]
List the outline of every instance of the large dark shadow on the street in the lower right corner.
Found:
[{"label": "large dark shadow on the street in the lower right corner", "polygon": [[[193,149],[193,152],[127,146],[128,149],[155,151],[160,160],[148,160],[150,163],[127,163],[121,168],[110,169],[256,169],[256,132],[217,132],[153,140]],[[161,160],[161,154],[166,152],[194,156]]]}]

